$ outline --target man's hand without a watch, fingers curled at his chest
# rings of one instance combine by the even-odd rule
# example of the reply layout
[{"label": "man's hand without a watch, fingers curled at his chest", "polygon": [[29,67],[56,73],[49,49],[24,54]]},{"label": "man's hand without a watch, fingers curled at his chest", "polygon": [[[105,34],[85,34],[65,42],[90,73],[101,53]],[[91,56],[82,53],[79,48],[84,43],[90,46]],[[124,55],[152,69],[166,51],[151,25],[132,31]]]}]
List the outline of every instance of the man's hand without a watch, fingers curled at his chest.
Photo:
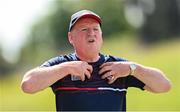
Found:
[{"label": "man's hand without a watch, fingers curled at his chest", "polygon": [[78,76],[82,81],[85,80],[85,77],[89,79],[93,68],[85,61],[71,61],[62,63],[64,66],[67,66],[67,71],[73,76]]}]

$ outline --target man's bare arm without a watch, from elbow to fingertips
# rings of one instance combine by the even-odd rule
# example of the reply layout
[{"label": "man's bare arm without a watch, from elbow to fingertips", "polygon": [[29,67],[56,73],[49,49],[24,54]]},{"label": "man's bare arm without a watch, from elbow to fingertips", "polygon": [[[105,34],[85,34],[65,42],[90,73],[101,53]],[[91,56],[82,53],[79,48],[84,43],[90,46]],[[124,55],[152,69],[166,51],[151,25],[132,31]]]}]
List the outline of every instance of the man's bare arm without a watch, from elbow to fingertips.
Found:
[{"label": "man's bare arm without a watch, from elbow to fingertips", "polygon": [[83,61],[64,62],[52,67],[39,67],[24,75],[21,88],[25,93],[36,93],[69,74],[79,76],[84,81],[85,76],[90,78],[91,72],[92,66]]}]

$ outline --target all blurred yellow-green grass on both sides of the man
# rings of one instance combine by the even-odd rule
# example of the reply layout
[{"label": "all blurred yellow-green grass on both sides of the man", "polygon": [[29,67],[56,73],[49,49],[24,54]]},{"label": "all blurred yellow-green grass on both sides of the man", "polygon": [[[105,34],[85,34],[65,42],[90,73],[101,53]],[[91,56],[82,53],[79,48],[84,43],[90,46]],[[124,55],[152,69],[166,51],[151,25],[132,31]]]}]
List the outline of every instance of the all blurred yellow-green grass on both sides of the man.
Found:
[{"label": "all blurred yellow-green grass on both sides of the man", "polygon": [[[127,110],[180,111],[180,89],[178,87],[180,85],[180,41],[165,41],[145,47],[128,37],[121,36],[120,38],[116,35],[105,40],[102,52],[160,68],[172,81],[173,87],[170,92],[163,94],[129,88]],[[20,89],[21,79],[22,76],[13,75],[13,77],[1,80],[0,111],[55,110],[55,97],[50,88],[33,95],[25,94]]]}]

